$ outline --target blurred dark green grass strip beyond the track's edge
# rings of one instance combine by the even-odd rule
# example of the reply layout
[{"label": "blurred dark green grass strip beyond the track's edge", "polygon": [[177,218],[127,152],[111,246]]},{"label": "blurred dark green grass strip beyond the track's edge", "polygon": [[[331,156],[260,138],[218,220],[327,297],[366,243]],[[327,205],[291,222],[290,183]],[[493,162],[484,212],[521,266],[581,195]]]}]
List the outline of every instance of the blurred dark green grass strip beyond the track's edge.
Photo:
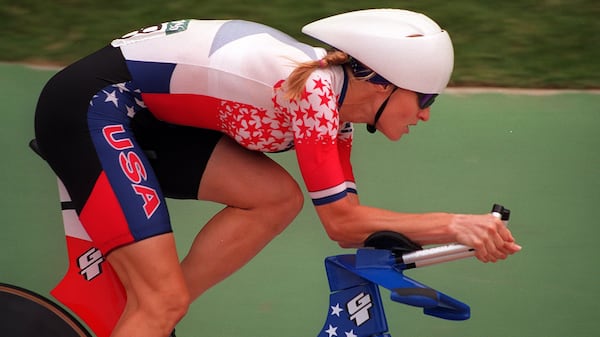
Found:
[{"label": "blurred dark green grass strip beyond the track's edge", "polygon": [[121,36],[181,18],[258,21],[309,43],[308,22],[364,8],[424,12],[452,37],[452,85],[592,88],[599,83],[595,0],[0,0],[0,60],[65,64]]}]

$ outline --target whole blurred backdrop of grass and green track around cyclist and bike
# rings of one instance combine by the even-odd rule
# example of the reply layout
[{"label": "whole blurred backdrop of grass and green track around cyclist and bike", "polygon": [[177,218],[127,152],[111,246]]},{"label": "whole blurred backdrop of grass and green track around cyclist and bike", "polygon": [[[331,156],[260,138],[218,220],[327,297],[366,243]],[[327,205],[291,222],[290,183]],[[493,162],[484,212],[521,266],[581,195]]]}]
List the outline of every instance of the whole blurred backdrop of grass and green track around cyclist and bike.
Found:
[{"label": "whole blurred backdrop of grass and green track around cyclist and bike", "polygon": [[[472,318],[444,321],[386,300],[391,335],[596,336],[600,3],[592,0],[0,0],[0,282],[49,296],[66,270],[55,177],[27,148],[37,96],[59,67],[157,22],[253,20],[314,44],[304,24],[375,7],[432,17],[449,31],[456,63],[431,120],[400,142],[357,127],[361,200],[406,212],[485,213],[502,203],[524,247],[497,264],[468,259],[407,273],[469,304]],[[293,152],[273,158],[300,179]],[[220,206],[168,202],[183,255]],[[178,336],[316,336],[328,310],[323,259],[351,252],[329,241],[307,202],[280,237],[192,306]]]}]

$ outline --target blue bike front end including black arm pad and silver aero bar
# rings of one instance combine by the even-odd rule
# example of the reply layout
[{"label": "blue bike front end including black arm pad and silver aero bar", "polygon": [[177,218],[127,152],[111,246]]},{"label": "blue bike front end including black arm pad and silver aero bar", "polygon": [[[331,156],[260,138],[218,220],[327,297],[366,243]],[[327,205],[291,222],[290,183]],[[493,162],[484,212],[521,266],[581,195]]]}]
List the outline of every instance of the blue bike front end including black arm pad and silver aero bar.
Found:
[{"label": "blue bike front end including black arm pad and silver aero bar", "polygon": [[[508,224],[510,210],[494,204],[492,214]],[[449,244],[423,249],[399,233],[378,232],[356,254],[330,256],[325,270],[331,290],[329,310],[318,337],[391,337],[379,288],[394,302],[423,308],[446,320],[470,318],[470,307],[406,275],[407,269],[471,257],[473,248]]]}]

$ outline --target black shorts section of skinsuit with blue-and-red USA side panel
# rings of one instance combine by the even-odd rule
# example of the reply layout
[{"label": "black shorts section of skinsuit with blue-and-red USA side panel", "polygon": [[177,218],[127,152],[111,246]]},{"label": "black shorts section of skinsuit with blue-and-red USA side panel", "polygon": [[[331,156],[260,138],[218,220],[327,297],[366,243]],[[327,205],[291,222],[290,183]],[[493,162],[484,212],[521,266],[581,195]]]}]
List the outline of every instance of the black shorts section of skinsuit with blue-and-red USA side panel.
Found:
[{"label": "black shorts section of skinsuit with blue-and-red USA side panel", "polygon": [[164,198],[197,198],[222,137],[157,120],[136,89],[107,46],[58,72],[36,108],[40,151],[104,253],[171,232]]}]

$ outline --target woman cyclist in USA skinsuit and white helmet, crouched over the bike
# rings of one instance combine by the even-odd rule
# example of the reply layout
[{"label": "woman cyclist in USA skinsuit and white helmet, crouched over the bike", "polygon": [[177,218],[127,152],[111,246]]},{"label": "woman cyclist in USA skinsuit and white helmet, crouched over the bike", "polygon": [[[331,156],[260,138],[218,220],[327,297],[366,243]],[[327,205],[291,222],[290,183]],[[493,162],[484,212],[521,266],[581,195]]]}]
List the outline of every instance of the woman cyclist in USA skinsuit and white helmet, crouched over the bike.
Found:
[{"label": "woman cyclist in USA skinsuit and white helmet, crouched over the bike", "polygon": [[[520,249],[491,215],[359,203],[353,123],[398,140],[427,121],[452,72],[447,32],[398,9],[336,15],[303,31],[335,49],[247,21],[167,22],[112,41],[43,89],[40,151],[127,294],[112,336],[169,335],[191,300],[291,223],[303,194],[265,152],[296,151],[316,212],[342,247],[389,230],[472,246],[484,262]],[[225,205],[181,263],[165,197]]]}]

